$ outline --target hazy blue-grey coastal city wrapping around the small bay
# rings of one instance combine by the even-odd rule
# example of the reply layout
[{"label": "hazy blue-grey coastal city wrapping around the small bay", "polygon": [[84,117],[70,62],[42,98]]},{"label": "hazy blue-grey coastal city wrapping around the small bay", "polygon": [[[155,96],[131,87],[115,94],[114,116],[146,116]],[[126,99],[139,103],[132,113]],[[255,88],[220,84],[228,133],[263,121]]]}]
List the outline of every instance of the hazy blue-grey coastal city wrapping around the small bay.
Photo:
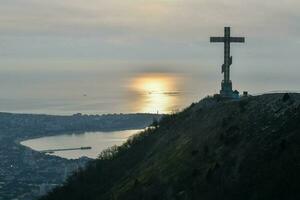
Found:
[{"label": "hazy blue-grey coastal city wrapping around the small bay", "polygon": [[31,200],[44,195],[92,160],[48,155],[22,146],[20,141],[63,133],[144,128],[155,117],[150,114],[48,116],[0,113],[0,200]]}]

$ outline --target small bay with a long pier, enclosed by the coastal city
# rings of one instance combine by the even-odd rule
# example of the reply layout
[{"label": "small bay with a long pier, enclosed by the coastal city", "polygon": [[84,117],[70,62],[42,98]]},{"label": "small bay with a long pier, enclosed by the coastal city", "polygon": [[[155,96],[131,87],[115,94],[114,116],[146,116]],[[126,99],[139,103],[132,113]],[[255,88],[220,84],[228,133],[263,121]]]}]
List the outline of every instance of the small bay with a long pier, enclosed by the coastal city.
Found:
[{"label": "small bay with a long pier, enclosed by the coastal city", "polygon": [[90,146],[92,147],[92,149],[59,151],[51,155],[56,155],[67,159],[77,159],[82,156],[87,156],[89,158],[97,158],[97,156],[102,150],[113,145],[121,145],[130,136],[140,131],[142,130],[86,132],[83,134],[69,134],[31,139],[22,141],[21,144],[37,151],[62,148],[80,148],[83,146]]}]

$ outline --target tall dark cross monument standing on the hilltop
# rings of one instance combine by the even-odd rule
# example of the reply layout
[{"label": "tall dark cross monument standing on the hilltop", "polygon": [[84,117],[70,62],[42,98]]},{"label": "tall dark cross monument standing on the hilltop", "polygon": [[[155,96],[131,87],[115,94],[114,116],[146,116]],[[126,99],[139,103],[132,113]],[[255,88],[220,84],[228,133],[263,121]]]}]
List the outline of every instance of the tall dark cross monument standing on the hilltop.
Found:
[{"label": "tall dark cross monument standing on the hilltop", "polygon": [[[244,37],[231,37],[230,27],[224,28],[224,37],[211,37],[210,42],[224,43],[224,64],[222,65],[222,73],[224,73],[224,80],[222,81],[220,94],[223,97],[233,98],[236,95],[232,91],[232,82],[230,80],[230,65],[232,64],[232,56],[230,55],[230,43],[244,43]],[[238,94],[237,94],[238,96]]]}]

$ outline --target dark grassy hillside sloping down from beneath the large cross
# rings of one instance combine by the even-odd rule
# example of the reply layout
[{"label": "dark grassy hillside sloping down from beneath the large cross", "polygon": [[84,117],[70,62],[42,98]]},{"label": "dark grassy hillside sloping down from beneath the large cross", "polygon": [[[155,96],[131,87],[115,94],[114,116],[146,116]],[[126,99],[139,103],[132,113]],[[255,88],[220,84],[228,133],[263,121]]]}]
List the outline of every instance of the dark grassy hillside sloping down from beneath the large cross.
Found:
[{"label": "dark grassy hillside sloping down from beneath the large cross", "polygon": [[300,94],[205,98],[42,200],[300,199]]}]

